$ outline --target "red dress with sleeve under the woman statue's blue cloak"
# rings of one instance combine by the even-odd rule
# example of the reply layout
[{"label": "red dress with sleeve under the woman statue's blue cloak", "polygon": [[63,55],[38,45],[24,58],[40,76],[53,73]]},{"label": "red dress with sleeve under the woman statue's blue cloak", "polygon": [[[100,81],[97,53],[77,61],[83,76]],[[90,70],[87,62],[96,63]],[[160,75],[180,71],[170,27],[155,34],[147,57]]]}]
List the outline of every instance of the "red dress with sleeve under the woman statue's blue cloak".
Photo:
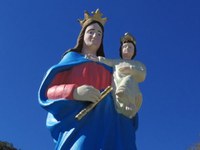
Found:
[{"label": "red dress with sleeve under the woman statue's blue cloak", "polygon": [[111,73],[95,62],[77,65],[58,73],[46,95],[48,99],[73,99],[74,89],[81,85],[90,85],[98,90],[105,89],[111,85]]}]

